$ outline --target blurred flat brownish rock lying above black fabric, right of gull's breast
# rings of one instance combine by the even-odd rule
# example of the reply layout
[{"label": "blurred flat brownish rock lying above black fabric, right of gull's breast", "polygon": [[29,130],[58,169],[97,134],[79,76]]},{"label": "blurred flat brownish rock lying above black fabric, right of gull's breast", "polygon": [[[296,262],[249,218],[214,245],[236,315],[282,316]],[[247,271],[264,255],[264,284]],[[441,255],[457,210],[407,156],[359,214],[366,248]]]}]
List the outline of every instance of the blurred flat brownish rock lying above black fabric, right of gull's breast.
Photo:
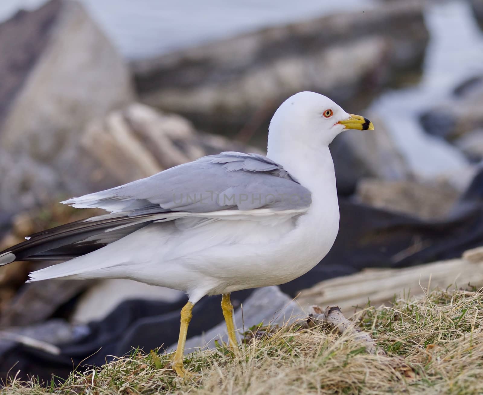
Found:
[{"label": "blurred flat brownish rock lying above black fabric, right of gull's breast", "polygon": [[459,192],[445,183],[430,185],[413,180],[365,178],[357,184],[356,197],[372,207],[438,220],[451,212]]}]

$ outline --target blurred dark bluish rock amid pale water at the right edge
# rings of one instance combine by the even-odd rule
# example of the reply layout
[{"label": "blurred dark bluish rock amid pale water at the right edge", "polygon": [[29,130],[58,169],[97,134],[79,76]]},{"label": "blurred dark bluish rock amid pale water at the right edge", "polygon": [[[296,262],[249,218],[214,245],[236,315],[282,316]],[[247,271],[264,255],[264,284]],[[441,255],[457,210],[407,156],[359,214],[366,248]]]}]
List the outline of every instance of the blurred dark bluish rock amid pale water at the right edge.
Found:
[{"label": "blurred dark bluish rock amid pale water at the right edge", "polygon": [[426,132],[447,140],[483,128],[483,77],[458,85],[453,95],[421,115]]}]

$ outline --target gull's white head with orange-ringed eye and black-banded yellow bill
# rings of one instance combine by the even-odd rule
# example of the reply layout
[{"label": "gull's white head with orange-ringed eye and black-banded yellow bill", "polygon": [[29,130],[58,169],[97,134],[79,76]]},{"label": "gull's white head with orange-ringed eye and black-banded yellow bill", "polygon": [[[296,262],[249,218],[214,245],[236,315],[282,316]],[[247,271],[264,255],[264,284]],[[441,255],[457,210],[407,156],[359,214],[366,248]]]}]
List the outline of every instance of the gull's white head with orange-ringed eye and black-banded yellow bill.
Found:
[{"label": "gull's white head with orange-ringed eye and black-banded yellow bill", "polygon": [[327,147],[335,136],[348,129],[374,130],[374,126],[367,118],[345,112],[327,96],[299,92],[275,111],[270,121],[269,150],[271,143]]}]

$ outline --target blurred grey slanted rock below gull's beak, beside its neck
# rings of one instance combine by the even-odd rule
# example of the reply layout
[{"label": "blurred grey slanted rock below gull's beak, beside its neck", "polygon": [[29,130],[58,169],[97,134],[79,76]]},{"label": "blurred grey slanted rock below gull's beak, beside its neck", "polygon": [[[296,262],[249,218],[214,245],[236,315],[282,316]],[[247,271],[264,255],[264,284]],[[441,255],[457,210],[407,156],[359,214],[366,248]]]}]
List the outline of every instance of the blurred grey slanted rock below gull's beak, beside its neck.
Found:
[{"label": "blurred grey slanted rock below gull's beak, beside its neck", "polygon": [[349,130],[337,136],[330,145],[339,195],[354,193],[357,181],[363,177],[398,180],[410,175],[408,163],[383,121],[373,114],[367,116],[376,130]]}]

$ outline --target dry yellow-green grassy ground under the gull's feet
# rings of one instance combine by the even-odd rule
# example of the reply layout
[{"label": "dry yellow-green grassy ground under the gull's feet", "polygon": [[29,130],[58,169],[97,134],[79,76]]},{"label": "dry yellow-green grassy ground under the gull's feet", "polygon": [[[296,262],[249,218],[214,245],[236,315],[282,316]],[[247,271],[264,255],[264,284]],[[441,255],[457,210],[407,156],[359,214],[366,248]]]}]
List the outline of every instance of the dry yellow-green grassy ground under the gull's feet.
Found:
[{"label": "dry yellow-green grassy ground under the gull's feet", "polygon": [[[348,316],[348,312],[345,312]],[[241,355],[198,352],[180,380],[169,356],[141,354],[85,368],[62,384],[9,381],[0,394],[482,394],[483,292],[436,290],[367,307],[354,321],[387,355],[327,328],[283,327],[247,336]]]}]

